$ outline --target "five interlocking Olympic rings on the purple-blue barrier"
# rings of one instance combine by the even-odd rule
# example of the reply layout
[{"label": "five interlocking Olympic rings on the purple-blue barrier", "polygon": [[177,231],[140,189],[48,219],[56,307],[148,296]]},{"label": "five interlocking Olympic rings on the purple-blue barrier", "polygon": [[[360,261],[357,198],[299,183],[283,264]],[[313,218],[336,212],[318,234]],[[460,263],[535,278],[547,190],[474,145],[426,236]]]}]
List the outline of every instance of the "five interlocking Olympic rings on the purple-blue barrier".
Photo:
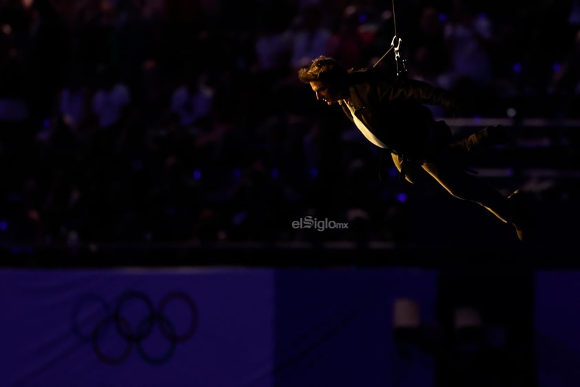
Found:
[{"label": "five interlocking Olympic rings on the purple-blue barrier", "polygon": [[[178,319],[169,318],[170,305],[171,310],[179,311]],[[91,343],[96,356],[107,364],[123,363],[133,347],[147,363],[163,364],[174,355],[177,344],[196,333],[199,315],[196,303],[185,292],[167,293],[155,308],[145,293],[130,290],[113,306],[97,295],[81,297],[72,321],[74,333]],[[187,324],[178,327],[176,323],[183,321]]]}]

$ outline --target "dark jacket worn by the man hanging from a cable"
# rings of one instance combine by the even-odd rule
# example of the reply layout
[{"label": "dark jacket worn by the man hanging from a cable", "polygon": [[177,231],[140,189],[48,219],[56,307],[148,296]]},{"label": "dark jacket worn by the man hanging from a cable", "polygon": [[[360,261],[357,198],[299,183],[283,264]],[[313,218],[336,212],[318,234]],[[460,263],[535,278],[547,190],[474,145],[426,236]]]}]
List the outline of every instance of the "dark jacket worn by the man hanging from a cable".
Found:
[{"label": "dark jacket worn by the man hanging from a cable", "polygon": [[[448,126],[436,122],[424,104],[450,110],[455,104],[450,92],[423,81],[384,76],[372,68],[349,73],[355,115],[391,152],[422,162],[449,143]],[[349,108],[343,105],[342,110],[353,121]]]}]

